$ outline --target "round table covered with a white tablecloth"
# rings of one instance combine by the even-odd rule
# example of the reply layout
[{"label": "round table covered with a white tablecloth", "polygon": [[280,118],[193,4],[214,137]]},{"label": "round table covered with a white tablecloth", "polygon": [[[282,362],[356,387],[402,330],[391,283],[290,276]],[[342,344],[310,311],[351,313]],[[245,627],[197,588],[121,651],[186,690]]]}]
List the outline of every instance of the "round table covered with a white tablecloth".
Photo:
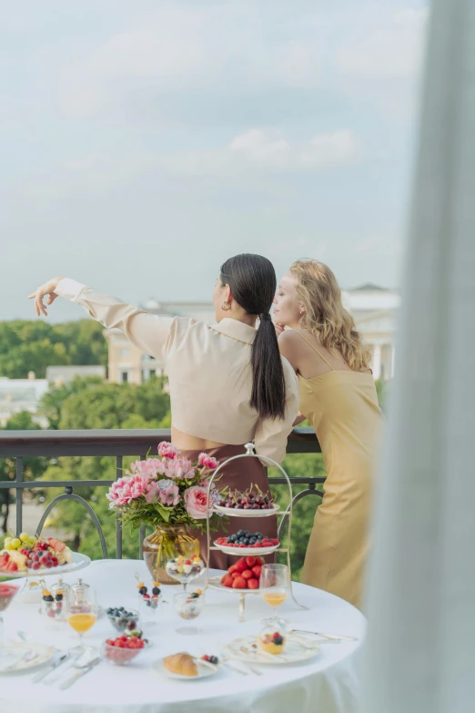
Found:
[{"label": "round table covered with a white tablecloth", "polygon": [[[150,575],[139,560],[98,560],[78,573],[97,591],[102,606],[137,608],[136,573],[149,583]],[[210,575],[217,575],[216,571]],[[68,583],[78,575],[65,575]],[[48,577],[48,579],[50,579]],[[56,577],[51,577],[51,582]],[[191,585],[193,587],[195,583]],[[162,605],[153,624],[142,622],[154,646],[143,650],[124,666],[102,661],[67,690],[57,684],[33,683],[34,674],[0,677],[2,713],[354,713],[359,698],[359,648],[365,632],[365,618],[337,596],[310,586],[295,584],[294,592],[308,611],[292,600],[279,607],[279,614],[294,628],[359,637],[357,642],[322,644],[318,656],[292,666],[264,665],[262,675],[241,676],[229,667],[199,680],[175,680],[158,674],[151,663],[168,654],[218,654],[236,637],[258,634],[261,620],[270,607],[260,596],[247,597],[246,621],[238,623],[238,596],[208,589],[206,606],[196,622],[203,634],[184,636],[176,629],[186,624],[177,616],[173,595],[181,586],[164,586],[168,604]],[[22,630],[32,641],[62,650],[77,644],[76,633],[67,625],[50,623],[38,614],[37,604],[14,602],[5,612],[5,640]],[[106,616],[99,618],[85,643],[99,647],[108,637],[118,636]],[[66,666],[66,665],[65,665]],[[58,669],[60,670],[60,669]],[[53,676],[53,675],[52,675]]]}]

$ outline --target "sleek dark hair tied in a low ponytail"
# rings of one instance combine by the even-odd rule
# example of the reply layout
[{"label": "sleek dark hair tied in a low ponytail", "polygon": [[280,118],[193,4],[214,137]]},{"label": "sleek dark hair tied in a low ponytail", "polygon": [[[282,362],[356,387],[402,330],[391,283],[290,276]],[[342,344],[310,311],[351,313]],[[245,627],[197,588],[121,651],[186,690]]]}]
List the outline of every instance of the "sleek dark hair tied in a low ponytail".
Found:
[{"label": "sleek dark hair tied in a low ponytail", "polygon": [[267,258],[243,253],[229,258],[221,266],[221,282],[229,285],[233,299],[243,310],[259,318],[251,353],[250,405],[261,418],[283,418],[286,382],[277,334],[269,314],[277,287],[276,271]]}]

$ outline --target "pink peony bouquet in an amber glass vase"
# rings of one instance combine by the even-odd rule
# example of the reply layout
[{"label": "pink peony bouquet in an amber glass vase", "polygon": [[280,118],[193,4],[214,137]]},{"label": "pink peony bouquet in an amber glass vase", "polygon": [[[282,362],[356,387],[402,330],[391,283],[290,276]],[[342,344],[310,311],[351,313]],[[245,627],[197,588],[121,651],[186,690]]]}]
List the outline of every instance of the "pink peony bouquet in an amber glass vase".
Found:
[{"label": "pink peony bouquet in an amber glass vase", "polygon": [[223,520],[213,512],[220,500],[215,484],[209,492],[209,475],[219,462],[200,453],[196,463],[183,457],[170,443],[158,445],[158,457],[132,463],[123,478],[113,483],[106,494],[109,508],[123,525],[136,529],[155,527],[146,537],[142,552],[154,580],[177,584],[167,575],[166,565],[179,555],[199,555],[197,538],[187,533],[188,527],[204,531],[209,510],[210,530],[217,530]]}]

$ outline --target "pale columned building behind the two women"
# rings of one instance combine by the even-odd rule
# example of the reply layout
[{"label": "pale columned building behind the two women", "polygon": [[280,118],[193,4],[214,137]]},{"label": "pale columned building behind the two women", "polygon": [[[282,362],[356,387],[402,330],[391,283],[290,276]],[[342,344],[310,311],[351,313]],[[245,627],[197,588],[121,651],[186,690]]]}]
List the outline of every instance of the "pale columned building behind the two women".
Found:
[{"label": "pale columned building behind the two women", "polygon": [[[372,351],[372,369],[376,379],[392,379],[394,373],[394,336],[399,309],[399,292],[376,285],[362,285],[343,291],[345,307],[355,318]],[[158,302],[148,300],[144,309],[167,317],[190,317],[212,324],[215,310],[212,302]],[[164,364],[144,354],[118,330],[106,330],[109,344],[109,382],[142,383],[151,376],[161,376]]]}]

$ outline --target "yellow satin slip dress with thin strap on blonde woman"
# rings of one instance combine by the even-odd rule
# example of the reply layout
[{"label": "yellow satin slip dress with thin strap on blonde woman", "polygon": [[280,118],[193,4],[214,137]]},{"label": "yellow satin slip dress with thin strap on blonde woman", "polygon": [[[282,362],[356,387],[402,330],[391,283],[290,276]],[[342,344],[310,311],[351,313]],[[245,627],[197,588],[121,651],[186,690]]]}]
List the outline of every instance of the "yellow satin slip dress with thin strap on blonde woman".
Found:
[{"label": "yellow satin slip dress with thin strap on blonde woman", "polygon": [[382,413],[372,374],[334,370],[300,336],[331,370],[313,379],[298,374],[300,412],[317,433],[327,471],[301,581],[360,607]]}]

